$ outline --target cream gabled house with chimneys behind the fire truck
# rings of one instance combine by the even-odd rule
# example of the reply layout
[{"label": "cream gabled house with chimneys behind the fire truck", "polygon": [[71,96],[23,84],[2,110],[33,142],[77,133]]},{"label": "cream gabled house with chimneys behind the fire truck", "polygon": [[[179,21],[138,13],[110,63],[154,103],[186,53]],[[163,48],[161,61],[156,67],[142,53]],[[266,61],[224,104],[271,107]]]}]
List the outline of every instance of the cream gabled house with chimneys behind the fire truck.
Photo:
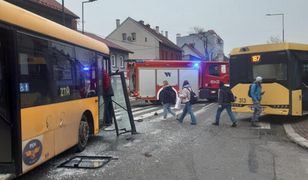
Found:
[{"label": "cream gabled house with chimneys behind the fire truck", "polygon": [[144,21],[127,18],[122,24],[116,21],[116,29],[107,36],[107,40],[132,52],[129,59],[181,59],[182,50],[159,31],[152,29]]}]

